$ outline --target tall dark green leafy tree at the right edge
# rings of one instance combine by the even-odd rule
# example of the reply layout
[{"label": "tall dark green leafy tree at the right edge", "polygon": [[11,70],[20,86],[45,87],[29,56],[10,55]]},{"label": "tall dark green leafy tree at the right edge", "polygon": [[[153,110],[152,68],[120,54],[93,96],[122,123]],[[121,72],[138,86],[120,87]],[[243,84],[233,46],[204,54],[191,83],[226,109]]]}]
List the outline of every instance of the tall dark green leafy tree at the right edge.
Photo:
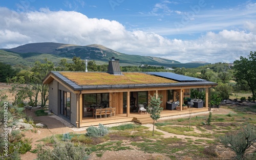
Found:
[{"label": "tall dark green leafy tree at the right edge", "polygon": [[250,52],[248,59],[240,57],[234,61],[234,77],[238,84],[248,86],[252,92],[252,97],[255,102],[256,91],[256,52]]}]

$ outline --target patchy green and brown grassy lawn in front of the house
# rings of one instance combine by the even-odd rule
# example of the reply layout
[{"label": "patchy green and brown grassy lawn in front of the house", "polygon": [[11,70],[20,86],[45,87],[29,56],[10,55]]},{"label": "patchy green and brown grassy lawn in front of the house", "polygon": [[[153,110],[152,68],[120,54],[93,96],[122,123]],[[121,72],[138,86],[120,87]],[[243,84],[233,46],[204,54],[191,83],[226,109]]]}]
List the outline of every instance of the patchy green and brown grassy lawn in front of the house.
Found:
[{"label": "patchy green and brown grassy lawn in front of the house", "polygon": [[[86,145],[87,153],[94,152],[98,157],[101,157],[105,151],[136,149],[145,153],[159,153],[170,159],[215,159],[218,155],[217,148],[220,153],[228,152],[228,149],[220,145],[218,136],[238,130],[244,122],[255,124],[254,107],[227,107],[237,113],[212,115],[210,125],[203,123],[208,119],[208,115],[158,122],[157,129],[176,134],[169,138],[163,138],[163,133],[160,131],[155,131],[155,136],[152,136],[152,130],[148,130],[145,126],[126,124],[108,128],[109,134],[100,138],[91,138],[85,134],[71,132],[69,141]],[[245,113],[244,110],[250,110],[251,113]],[[179,135],[189,137],[182,139]],[[62,139],[63,135],[57,134],[41,141],[45,144],[53,144]]]}]

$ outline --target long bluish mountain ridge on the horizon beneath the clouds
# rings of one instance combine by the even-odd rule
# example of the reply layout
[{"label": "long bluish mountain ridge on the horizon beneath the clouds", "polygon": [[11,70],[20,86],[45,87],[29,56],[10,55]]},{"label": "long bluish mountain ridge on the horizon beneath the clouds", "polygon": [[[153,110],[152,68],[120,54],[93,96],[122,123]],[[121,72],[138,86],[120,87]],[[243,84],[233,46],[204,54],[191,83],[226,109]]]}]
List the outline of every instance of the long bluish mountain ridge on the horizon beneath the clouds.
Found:
[{"label": "long bluish mountain ridge on the horizon beneath the clouds", "polygon": [[[80,57],[81,59],[89,59],[96,61],[108,62],[111,57],[115,57],[120,60],[120,64],[133,64],[133,65],[159,65],[159,66],[178,66],[183,65],[195,65],[201,66],[208,63],[181,63],[176,60],[169,60],[153,56],[139,56],[139,55],[129,55],[114,51],[112,49],[106,48],[100,44],[90,44],[90,45],[76,45],[76,44],[65,44],[65,43],[55,43],[55,42],[38,42],[38,43],[28,43],[20,45],[12,49],[2,49],[7,52],[17,53],[21,57],[30,57],[33,55],[41,54],[51,54],[53,56],[63,57],[63,58],[73,58],[74,56]],[[32,54],[33,53],[33,54]]]}]

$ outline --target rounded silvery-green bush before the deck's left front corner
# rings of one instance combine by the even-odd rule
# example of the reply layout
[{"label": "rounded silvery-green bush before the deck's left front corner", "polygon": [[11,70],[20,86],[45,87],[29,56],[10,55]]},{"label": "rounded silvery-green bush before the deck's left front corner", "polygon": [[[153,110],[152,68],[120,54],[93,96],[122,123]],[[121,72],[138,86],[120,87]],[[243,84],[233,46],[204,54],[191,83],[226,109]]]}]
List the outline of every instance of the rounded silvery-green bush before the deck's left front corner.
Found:
[{"label": "rounded silvery-green bush before the deck's left front corner", "polygon": [[109,133],[108,128],[106,128],[104,125],[99,124],[99,128],[91,126],[86,129],[88,136],[98,137],[98,136],[104,136]]}]

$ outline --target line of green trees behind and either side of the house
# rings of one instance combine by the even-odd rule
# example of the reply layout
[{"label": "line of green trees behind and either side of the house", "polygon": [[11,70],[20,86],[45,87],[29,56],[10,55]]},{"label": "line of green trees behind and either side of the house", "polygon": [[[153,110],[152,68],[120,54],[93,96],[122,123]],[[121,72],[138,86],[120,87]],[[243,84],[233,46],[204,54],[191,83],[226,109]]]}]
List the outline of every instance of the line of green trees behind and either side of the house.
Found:
[{"label": "line of green trees behind and either side of the house", "polygon": [[[250,52],[248,58],[240,57],[234,61],[233,66],[228,63],[207,64],[197,68],[178,68],[174,70],[165,70],[163,66],[121,66],[122,72],[173,72],[180,75],[205,79],[207,81],[216,82],[214,93],[219,99],[228,99],[230,93],[239,92],[240,90],[250,91],[255,100],[256,89],[256,52]],[[86,64],[80,57],[73,57],[72,62],[68,63],[63,58],[55,65],[52,61],[45,59],[44,61],[36,61],[35,64],[27,70],[19,70],[13,68],[9,64],[0,62],[0,82],[12,83],[11,92],[15,96],[14,103],[22,103],[25,98],[29,98],[30,105],[36,106],[38,95],[41,95],[41,107],[46,105],[48,101],[48,85],[42,84],[42,80],[50,71],[76,71],[84,72]],[[106,72],[107,64],[96,64],[95,61],[88,61],[89,72]],[[27,84],[27,85],[22,85]],[[216,96],[215,95],[215,96]]]}]

